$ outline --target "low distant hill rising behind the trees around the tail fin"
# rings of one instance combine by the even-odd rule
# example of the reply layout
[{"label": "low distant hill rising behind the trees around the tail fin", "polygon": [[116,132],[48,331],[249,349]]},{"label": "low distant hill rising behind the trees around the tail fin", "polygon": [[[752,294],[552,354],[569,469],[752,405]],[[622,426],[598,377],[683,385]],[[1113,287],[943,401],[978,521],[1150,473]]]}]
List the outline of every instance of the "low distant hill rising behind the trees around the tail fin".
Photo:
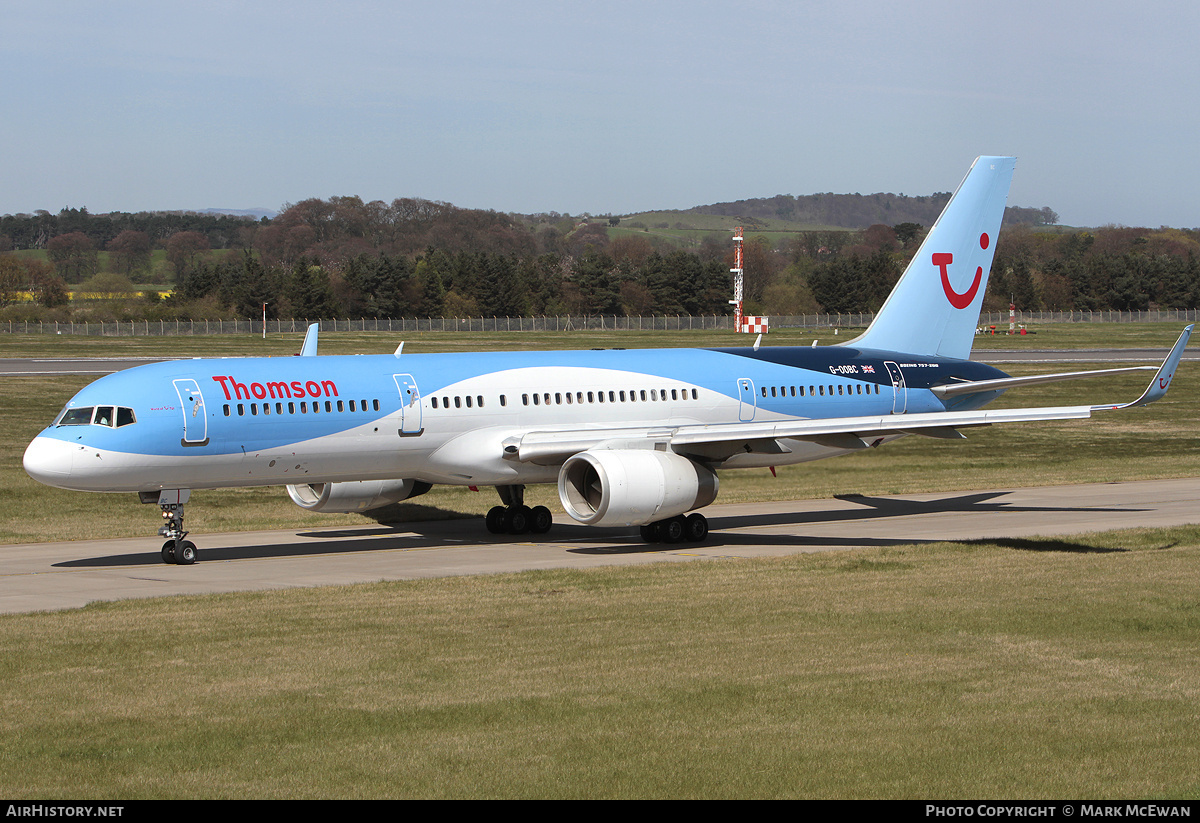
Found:
[{"label": "low distant hill rising behind the trees around the tail fin", "polygon": [[[754,222],[784,221],[800,226],[839,227],[845,229],[865,229],[877,223],[896,226],[898,223],[920,223],[932,226],[942,209],[950,199],[949,192],[907,197],[905,194],[776,194],[733,203],[714,203],[695,206],[679,214],[716,215],[737,217],[748,226]],[[1027,223],[1031,226],[1054,226],[1058,215],[1049,206],[1033,209],[1027,206],[1008,206],[1004,210],[1004,223]]]}]

